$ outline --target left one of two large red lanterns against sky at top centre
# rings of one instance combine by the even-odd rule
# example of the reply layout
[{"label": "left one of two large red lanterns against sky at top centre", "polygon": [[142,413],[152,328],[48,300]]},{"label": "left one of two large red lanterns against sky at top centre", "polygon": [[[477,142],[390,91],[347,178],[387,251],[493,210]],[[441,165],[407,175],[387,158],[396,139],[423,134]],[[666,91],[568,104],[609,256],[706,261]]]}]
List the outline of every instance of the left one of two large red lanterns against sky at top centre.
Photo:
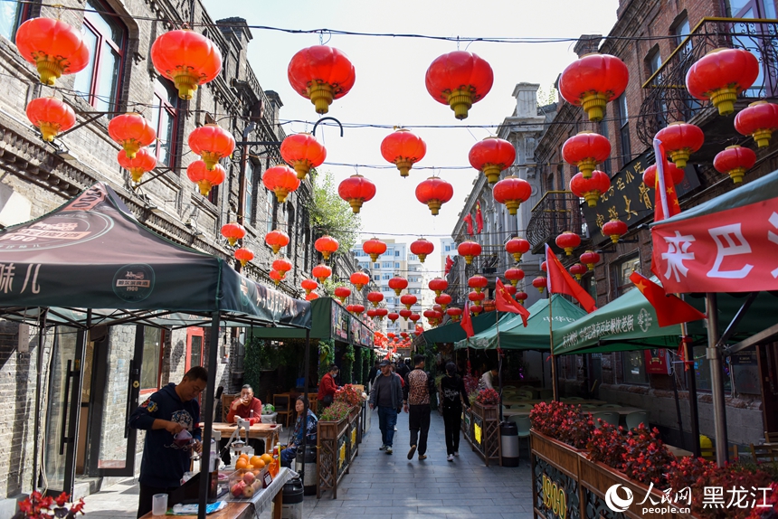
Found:
[{"label": "left one of two large red lanterns against sky at top centre", "polygon": [[316,113],[326,114],[329,105],[354,86],[354,65],[346,54],[327,45],[314,45],[297,52],[289,61],[289,84],[316,107]]}]

